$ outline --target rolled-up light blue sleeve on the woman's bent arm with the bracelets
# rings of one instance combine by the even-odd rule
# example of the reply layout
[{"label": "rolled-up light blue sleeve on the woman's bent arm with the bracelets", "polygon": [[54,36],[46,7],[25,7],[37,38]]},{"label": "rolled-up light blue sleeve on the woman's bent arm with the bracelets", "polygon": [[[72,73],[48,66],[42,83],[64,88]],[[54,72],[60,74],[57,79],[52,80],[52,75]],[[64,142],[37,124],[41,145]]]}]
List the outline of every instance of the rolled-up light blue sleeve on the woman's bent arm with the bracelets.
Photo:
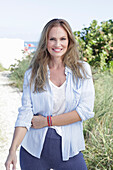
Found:
[{"label": "rolled-up light blue sleeve on the woman's bent arm with the bracelets", "polygon": [[88,73],[87,78],[82,80],[82,89],[79,103],[76,107],[76,111],[79,114],[82,121],[85,121],[94,116],[94,99],[95,90],[92,79],[91,68],[89,64],[85,64],[86,71]]}]

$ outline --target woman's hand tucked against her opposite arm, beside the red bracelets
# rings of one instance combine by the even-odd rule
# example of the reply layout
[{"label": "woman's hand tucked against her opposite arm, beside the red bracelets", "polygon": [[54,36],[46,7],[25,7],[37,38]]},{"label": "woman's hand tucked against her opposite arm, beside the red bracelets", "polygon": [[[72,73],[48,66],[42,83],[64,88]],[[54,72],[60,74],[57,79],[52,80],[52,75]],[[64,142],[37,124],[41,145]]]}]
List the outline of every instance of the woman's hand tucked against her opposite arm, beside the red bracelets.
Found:
[{"label": "woman's hand tucked against her opposite arm, beside the red bracelets", "polygon": [[47,126],[47,118],[42,115],[33,116],[31,123],[32,123],[31,126],[32,128],[40,129]]}]

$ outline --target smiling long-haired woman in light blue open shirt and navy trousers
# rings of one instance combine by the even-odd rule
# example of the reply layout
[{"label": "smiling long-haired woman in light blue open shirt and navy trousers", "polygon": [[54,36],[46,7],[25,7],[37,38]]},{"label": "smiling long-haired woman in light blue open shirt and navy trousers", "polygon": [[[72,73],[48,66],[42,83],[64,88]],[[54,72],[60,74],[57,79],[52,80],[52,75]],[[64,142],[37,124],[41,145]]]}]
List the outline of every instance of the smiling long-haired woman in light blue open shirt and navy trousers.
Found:
[{"label": "smiling long-haired woman in light blue open shirt and navy trousers", "polygon": [[[25,73],[22,107],[6,160],[22,170],[85,170],[83,121],[92,118],[90,66],[80,61],[72,30],[63,19],[49,21]],[[21,143],[22,142],[22,143]]]}]

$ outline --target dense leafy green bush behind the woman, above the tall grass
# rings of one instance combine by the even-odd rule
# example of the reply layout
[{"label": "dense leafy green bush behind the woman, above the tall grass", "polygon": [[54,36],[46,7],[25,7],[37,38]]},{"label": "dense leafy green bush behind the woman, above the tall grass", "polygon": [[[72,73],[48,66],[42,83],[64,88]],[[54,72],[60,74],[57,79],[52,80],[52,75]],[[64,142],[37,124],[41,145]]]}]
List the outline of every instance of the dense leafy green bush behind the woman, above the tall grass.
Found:
[{"label": "dense leafy green bush behind the woman, above the tall grass", "polygon": [[75,31],[74,35],[84,60],[102,70],[113,71],[113,20],[103,21],[100,25],[93,20],[88,28]]}]

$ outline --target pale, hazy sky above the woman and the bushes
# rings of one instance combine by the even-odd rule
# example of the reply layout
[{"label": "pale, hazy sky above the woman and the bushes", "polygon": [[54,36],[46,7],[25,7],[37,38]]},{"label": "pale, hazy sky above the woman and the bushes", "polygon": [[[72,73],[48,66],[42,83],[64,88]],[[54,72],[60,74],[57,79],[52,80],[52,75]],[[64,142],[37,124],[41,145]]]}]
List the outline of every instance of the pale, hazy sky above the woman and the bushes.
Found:
[{"label": "pale, hazy sky above the woman and the bushes", "polygon": [[0,0],[0,38],[38,41],[45,24],[66,19],[73,32],[113,19],[113,0]]}]

